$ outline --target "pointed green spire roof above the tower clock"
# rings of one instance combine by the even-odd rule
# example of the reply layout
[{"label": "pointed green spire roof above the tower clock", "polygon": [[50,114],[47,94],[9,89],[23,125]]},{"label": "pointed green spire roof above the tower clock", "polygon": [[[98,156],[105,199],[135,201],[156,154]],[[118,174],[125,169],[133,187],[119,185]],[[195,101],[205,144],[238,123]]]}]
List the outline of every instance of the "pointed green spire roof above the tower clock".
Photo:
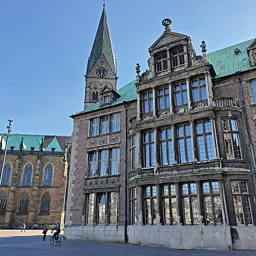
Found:
[{"label": "pointed green spire roof above the tower clock", "polygon": [[113,72],[113,75],[117,77],[116,59],[115,55],[113,54],[113,46],[109,33],[109,24],[107,23],[105,8],[103,8],[102,11],[100,24],[98,26],[98,30],[94,39],[93,48],[91,49],[91,55],[87,63],[86,75],[89,74],[91,68],[93,68],[102,53],[106,57],[107,62],[109,63],[109,66],[111,67],[111,70]]}]

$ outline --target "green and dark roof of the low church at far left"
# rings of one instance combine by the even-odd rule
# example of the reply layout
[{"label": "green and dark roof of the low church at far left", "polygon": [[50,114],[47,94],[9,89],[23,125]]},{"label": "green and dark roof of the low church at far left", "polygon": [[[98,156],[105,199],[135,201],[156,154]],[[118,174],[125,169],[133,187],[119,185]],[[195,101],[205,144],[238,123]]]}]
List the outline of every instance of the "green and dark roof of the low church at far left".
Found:
[{"label": "green and dark roof of the low church at far left", "polygon": [[[6,135],[0,134],[0,141],[2,140],[2,149],[6,148]],[[19,150],[19,145],[21,144],[21,138],[23,140],[23,150],[30,151],[31,147],[35,147],[35,151],[39,151],[40,145],[42,143],[42,138],[44,139],[44,151],[51,152],[52,147],[55,148],[55,152],[64,152],[66,140],[70,136],[48,136],[48,135],[31,135],[31,134],[12,134],[8,138],[7,150],[10,147],[14,147],[14,150]]]}]

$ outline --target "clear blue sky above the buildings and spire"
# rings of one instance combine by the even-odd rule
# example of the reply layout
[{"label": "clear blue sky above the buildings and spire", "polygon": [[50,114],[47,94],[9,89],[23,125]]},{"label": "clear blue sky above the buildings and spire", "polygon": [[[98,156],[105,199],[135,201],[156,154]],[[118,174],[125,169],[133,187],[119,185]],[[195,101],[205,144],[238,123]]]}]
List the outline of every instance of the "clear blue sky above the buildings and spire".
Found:
[{"label": "clear blue sky above the buildings and spire", "polygon": [[[84,74],[103,0],[0,1],[0,133],[71,135],[84,103]],[[161,22],[189,35],[197,55],[256,37],[256,1],[106,0],[118,89],[147,68]]]}]

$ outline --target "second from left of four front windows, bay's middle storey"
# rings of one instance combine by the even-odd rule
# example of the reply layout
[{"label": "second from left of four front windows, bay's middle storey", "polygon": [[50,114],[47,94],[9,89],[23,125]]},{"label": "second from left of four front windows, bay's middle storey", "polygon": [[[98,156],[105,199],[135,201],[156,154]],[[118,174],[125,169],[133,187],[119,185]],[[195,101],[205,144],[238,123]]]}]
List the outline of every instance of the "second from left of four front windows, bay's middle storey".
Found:
[{"label": "second from left of four front windows, bay's middle storey", "polygon": [[161,164],[173,164],[172,129],[170,128],[161,130]]}]

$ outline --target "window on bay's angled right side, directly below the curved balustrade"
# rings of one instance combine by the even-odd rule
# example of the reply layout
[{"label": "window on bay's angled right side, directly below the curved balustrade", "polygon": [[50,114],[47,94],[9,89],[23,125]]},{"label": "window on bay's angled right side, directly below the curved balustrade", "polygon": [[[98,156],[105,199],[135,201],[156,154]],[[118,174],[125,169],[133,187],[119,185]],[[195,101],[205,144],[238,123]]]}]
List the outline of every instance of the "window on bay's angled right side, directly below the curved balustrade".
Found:
[{"label": "window on bay's angled right side, directly below the curved balustrade", "polygon": [[239,142],[239,131],[237,129],[237,121],[234,119],[223,119],[222,129],[227,159],[241,159],[241,147]]}]

